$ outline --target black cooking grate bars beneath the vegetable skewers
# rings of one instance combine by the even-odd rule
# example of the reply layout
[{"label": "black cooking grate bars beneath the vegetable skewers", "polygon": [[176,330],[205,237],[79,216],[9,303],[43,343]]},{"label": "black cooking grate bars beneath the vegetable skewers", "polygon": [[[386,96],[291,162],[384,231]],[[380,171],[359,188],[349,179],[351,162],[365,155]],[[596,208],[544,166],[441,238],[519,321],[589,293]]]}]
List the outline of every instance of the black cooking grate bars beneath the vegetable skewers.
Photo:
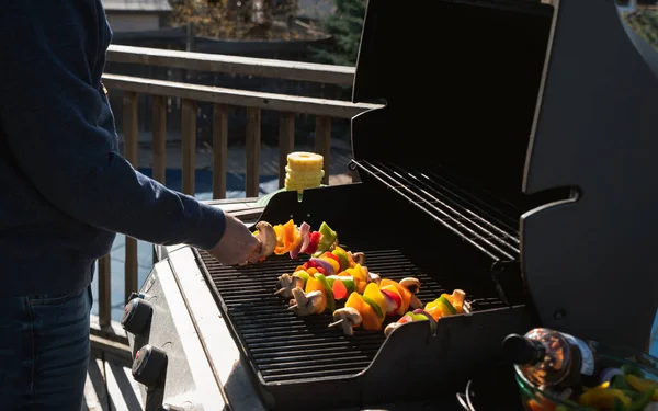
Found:
[{"label": "black cooking grate bars beneath the vegetable skewers", "polygon": [[[396,249],[351,246],[345,249],[364,252],[365,265],[383,278],[420,279],[418,297],[423,302],[446,292],[441,278],[428,275]],[[348,338],[328,329],[329,313],[297,317],[287,310],[287,301],[273,294],[276,278],[303,264],[302,259],[273,256],[264,263],[235,267],[218,264],[205,252],[200,252],[200,258],[243,355],[264,384],[354,376],[371,364],[384,342],[383,332],[356,329]],[[474,310],[503,306],[497,298],[467,298],[473,300]]]}]

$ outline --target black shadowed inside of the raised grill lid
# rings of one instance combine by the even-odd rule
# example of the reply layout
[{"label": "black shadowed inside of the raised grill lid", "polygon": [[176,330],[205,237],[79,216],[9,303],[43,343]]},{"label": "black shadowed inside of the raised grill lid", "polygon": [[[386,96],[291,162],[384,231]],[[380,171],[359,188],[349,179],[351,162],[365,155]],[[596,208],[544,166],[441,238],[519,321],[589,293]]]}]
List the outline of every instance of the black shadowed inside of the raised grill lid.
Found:
[{"label": "black shadowed inside of the raised grill lid", "polygon": [[[520,208],[553,8],[538,1],[370,0],[354,159],[456,175]],[[439,61],[439,64],[436,64]]]}]

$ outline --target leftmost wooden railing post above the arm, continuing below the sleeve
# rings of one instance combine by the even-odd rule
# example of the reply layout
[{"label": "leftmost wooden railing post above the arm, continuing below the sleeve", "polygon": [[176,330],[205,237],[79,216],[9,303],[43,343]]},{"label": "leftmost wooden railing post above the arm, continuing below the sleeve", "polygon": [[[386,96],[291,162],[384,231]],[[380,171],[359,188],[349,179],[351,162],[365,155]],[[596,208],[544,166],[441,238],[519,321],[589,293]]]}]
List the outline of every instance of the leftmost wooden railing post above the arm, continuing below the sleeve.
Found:
[{"label": "leftmost wooden railing post above the arm, continuing below the sleeve", "polygon": [[[124,111],[124,157],[136,169],[137,168],[137,142],[139,139],[138,125],[138,100],[137,93],[125,92],[123,98]],[[125,286],[124,302],[127,302],[131,293],[137,290],[137,240],[126,236],[126,262],[125,262]]]}]

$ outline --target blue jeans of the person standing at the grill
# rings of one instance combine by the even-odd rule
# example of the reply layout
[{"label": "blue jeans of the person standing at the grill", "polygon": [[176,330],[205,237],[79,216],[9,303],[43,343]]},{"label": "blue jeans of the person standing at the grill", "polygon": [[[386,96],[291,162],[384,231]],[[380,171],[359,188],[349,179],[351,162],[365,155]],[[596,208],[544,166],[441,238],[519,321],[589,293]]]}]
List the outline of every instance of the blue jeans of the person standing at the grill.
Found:
[{"label": "blue jeans of the person standing at the grill", "polygon": [[89,365],[91,287],[0,297],[0,409],[79,411]]}]

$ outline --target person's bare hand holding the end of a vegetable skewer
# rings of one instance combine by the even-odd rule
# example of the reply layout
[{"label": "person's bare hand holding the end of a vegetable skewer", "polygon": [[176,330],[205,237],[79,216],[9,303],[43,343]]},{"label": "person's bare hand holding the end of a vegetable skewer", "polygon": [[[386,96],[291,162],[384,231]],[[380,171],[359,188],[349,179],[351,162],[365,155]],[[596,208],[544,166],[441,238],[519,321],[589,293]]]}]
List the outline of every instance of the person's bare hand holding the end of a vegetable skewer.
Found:
[{"label": "person's bare hand holding the end of a vegetable skewer", "polygon": [[207,251],[224,265],[256,263],[261,256],[261,242],[242,221],[226,213],[224,236]]}]

